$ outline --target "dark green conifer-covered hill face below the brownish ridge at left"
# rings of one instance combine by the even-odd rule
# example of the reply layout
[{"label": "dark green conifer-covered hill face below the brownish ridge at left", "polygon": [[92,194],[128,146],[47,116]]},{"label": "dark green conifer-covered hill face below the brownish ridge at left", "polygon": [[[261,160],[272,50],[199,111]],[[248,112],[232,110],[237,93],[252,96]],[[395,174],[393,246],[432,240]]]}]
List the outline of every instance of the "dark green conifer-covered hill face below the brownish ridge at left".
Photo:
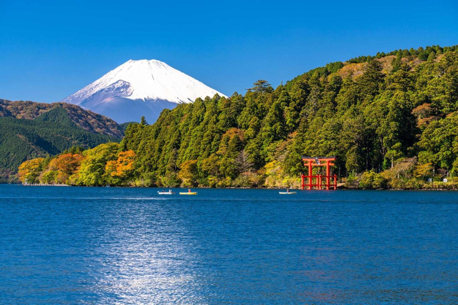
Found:
[{"label": "dark green conifer-covered hill face below the brownish ridge at left", "polygon": [[[3,113],[6,111],[3,110]],[[113,133],[110,131],[109,134]],[[57,155],[76,145],[89,148],[119,140],[117,136],[83,129],[73,122],[67,109],[60,105],[38,113],[33,119],[15,118],[10,112],[0,117],[0,180],[14,181],[11,174],[26,159]]]}]

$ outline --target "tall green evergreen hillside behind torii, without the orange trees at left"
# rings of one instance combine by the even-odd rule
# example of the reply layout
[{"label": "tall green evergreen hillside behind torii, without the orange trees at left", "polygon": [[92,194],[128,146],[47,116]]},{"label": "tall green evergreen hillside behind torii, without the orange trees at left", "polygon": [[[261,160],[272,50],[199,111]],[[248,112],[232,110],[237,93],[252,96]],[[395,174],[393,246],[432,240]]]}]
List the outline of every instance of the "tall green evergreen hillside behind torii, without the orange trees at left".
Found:
[{"label": "tall green evergreen hillside behind torii, without the orange trees at left", "polygon": [[[457,51],[435,46],[389,56],[329,64],[275,90],[257,84],[245,96],[197,99],[163,111],[151,126],[132,124],[121,144],[136,152],[140,176],[164,182],[180,180],[187,161],[196,161],[194,184],[240,180],[243,155],[251,171],[265,175],[278,165],[284,177],[300,174],[301,155],[336,155],[341,175],[391,169],[405,158],[458,174],[458,134],[435,132],[458,123]],[[358,63],[357,77],[357,70],[339,74]]]}]

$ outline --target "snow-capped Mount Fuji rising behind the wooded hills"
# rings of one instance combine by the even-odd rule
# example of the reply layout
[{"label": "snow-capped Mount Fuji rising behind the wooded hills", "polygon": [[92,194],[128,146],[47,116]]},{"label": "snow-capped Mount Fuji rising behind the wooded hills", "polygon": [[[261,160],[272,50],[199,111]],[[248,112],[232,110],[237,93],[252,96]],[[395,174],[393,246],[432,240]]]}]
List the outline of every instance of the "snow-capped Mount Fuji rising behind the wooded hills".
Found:
[{"label": "snow-capped Mount Fuji rising behind the wooded hills", "polygon": [[142,116],[154,122],[165,108],[215,94],[225,96],[162,61],[131,59],[61,102],[103,114],[118,123],[139,122]]}]

